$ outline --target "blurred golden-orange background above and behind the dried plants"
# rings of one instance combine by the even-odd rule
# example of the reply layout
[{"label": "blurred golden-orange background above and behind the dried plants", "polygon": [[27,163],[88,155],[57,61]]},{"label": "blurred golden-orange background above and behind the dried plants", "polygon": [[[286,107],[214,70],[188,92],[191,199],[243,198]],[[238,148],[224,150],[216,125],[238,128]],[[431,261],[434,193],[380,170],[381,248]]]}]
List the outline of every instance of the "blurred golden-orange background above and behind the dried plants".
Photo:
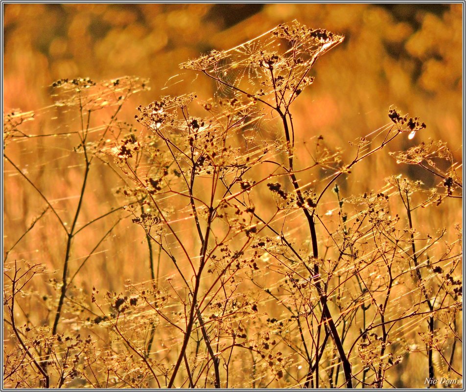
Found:
[{"label": "blurred golden-orange background above and behind the dried plants", "polygon": [[[166,94],[163,87],[181,72],[180,63],[214,48],[236,46],[296,19],[345,36],[343,44],[318,60],[312,70],[313,85],[294,104],[298,142],[324,135],[326,145],[346,150],[349,141],[388,123],[393,106],[403,114],[419,116],[427,128],[413,140],[401,138],[389,146],[390,151],[442,139],[455,159],[462,161],[462,16],[462,4],[5,4],[3,105],[5,111],[36,112],[35,120],[24,124],[28,134],[64,132],[73,122],[60,115],[51,119],[55,116],[49,89],[53,81],[75,77],[99,81],[124,75],[149,78],[151,90],[132,97],[118,115],[131,121],[138,105]],[[206,91],[214,88],[207,80],[196,82]],[[185,89],[186,84],[180,84],[172,90],[185,93]],[[76,208],[82,165],[71,154],[77,141],[73,145],[68,139],[63,139],[64,144],[60,140],[22,139],[8,144],[5,151],[67,221]],[[297,159],[305,166],[304,155]],[[388,150],[373,158],[371,172],[367,167],[355,168],[353,183],[342,184],[344,196],[380,189],[386,176],[397,173],[434,185],[429,176],[423,177],[425,173],[397,165]],[[117,179],[104,173],[99,168],[91,176],[78,224],[121,205],[112,192]],[[6,161],[4,180],[7,250],[46,205]],[[429,224],[441,228],[460,223],[461,204],[451,206],[443,214],[427,217]],[[114,223],[109,216],[74,239],[71,273]],[[48,213],[9,260],[43,263],[59,279],[62,234]],[[146,280],[144,241],[139,227],[130,219],[122,221],[74,283],[89,294],[93,285],[117,291],[126,279]],[[169,275],[170,268],[162,266],[162,276]],[[38,290],[56,296],[51,287]],[[46,310],[39,313],[47,317]]]}]

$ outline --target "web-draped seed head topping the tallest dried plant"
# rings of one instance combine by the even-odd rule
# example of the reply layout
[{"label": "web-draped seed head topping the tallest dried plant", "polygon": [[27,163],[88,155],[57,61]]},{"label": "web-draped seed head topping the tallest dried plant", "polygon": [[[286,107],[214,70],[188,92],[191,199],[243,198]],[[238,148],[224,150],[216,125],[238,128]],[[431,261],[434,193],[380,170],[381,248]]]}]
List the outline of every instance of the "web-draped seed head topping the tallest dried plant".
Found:
[{"label": "web-draped seed head topping the tallest dried plant", "polygon": [[273,108],[289,105],[307,85],[316,60],[343,37],[297,22],[279,25],[239,46],[191,60],[181,68],[201,71],[216,81],[219,97],[245,96]]}]

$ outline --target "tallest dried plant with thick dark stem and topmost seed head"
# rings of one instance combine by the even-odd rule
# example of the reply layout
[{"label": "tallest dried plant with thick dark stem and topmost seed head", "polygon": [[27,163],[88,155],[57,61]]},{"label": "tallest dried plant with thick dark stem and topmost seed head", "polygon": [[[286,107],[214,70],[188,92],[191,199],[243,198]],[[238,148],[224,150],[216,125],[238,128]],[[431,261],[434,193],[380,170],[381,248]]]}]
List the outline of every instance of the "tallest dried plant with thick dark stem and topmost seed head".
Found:
[{"label": "tallest dried plant with thick dark stem and topmost seed head", "polygon": [[[312,243],[312,254],[314,260],[316,260],[314,264],[313,271],[309,271],[311,273],[311,277],[314,281],[314,285],[319,294],[319,300],[322,305],[323,311],[323,320],[325,325],[328,325],[330,330],[333,342],[338,350],[340,360],[343,364],[343,370],[345,374],[346,385],[348,388],[352,388],[352,381],[351,381],[351,365],[350,362],[345,354],[345,350],[343,348],[342,341],[340,339],[338,330],[335,326],[335,323],[332,319],[330,310],[328,308],[327,300],[326,300],[326,293],[324,288],[321,285],[320,279],[320,272],[319,266],[317,264],[317,259],[319,257],[319,250],[318,250],[318,243],[317,243],[317,233],[315,228],[314,218],[309,212],[309,210],[305,206],[305,201],[301,192],[301,187],[298,183],[298,180],[295,175],[294,165],[293,165],[293,144],[294,144],[294,132],[293,132],[293,123],[291,119],[291,114],[289,112],[289,106],[292,101],[296,98],[296,96],[302,91],[306,84],[312,83],[312,78],[308,78],[307,75],[315,64],[317,58],[323,54],[329,48],[337,45],[342,41],[341,37],[333,36],[333,34],[326,32],[326,30],[306,30],[305,28],[301,28],[299,24],[296,25],[296,30],[293,29],[290,31],[287,26],[279,26],[279,28],[273,33],[278,37],[289,42],[291,45],[291,54],[289,52],[288,58],[285,57],[281,58],[278,54],[273,53],[266,53],[261,51],[258,54],[257,59],[254,59],[256,64],[259,64],[259,73],[263,74],[263,78],[265,79],[262,82],[263,85],[268,85],[270,88],[270,92],[273,96],[272,101],[267,101],[265,98],[262,98],[263,90],[260,90],[259,93],[251,93],[245,91],[243,88],[230,83],[228,80],[222,79],[222,77],[216,76],[212,74],[212,72],[207,71],[206,61],[204,58],[200,59],[199,64],[188,63],[186,68],[196,69],[204,73],[205,75],[213,78],[217,81],[217,83],[223,84],[228,88],[232,89],[234,92],[251,97],[253,96],[258,102],[261,102],[265,106],[270,107],[271,109],[275,110],[281,118],[285,139],[286,139],[286,147],[287,147],[287,156],[288,156],[288,173],[290,181],[293,185],[295,194],[297,196],[297,205],[302,209],[303,214],[307,220],[309,232],[311,236],[311,243]],[[303,53],[302,48],[300,47],[300,42],[303,40],[313,40],[315,39],[318,41],[317,49],[314,52]],[[322,40],[322,41],[319,41]],[[308,59],[302,62],[300,56],[309,56]],[[251,55],[251,58],[254,58],[254,55]],[[216,56],[212,56],[212,60],[216,61]],[[212,61],[208,59],[207,61]],[[251,64],[254,64],[251,62]],[[291,124],[288,124],[288,119]],[[336,179],[336,178],[335,178]],[[329,185],[328,185],[329,186]],[[327,187],[328,187],[327,186]],[[325,192],[325,189],[324,191]],[[317,204],[314,206],[317,207]],[[307,267],[306,267],[307,268]],[[320,336],[320,328],[322,324],[319,324],[318,336]],[[318,360],[318,358],[316,358]],[[181,363],[181,356],[178,360]],[[312,365],[309,364],[309,368]],[[319,368],[316,365],[316,387],[318,387],[319,382]]]}]

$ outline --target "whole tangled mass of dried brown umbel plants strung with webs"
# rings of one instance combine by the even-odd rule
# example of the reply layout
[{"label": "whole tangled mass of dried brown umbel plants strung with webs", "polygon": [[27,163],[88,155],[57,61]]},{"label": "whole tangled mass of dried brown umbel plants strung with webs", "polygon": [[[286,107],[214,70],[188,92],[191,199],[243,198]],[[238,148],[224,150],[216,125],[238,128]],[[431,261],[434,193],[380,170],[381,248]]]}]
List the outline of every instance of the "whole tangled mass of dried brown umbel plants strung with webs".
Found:
[{"label": "whole tangled mass of dried brown umbel plants strung with webs", "polygon": [[[394,108],[388,124],[350,140],[349,160],[318,134],[308,156],[296,154],[292,104],[312,84],[318,58],[342,41],[293,22],[214,50],[181,68],[214,81],[215,97],[164,96],[137,108],[137,125],[117,115],[146,81],[53,84],[63,92],[56,106],[78,111],[81,130],[69,137],[79,139],[83,182],[65,225],[5,155],[46,202],[37,220],[51,211],[67,242],[40,325],[25,315],[19,327],[14,306],[37,296],[29,280],[46,270],[26,263],[22,272],[15,262],[5,272],[15,343],[5,350],[4,386],[384,388],[399,384],[412,356],[422,378],[462,377],[461,226],[417,226],[461,198],[461,164],[445,143],[421,144],[391,155],[437,186],[395,174],[378,192],[345,195],[354,166],[426,128]],[[91,114],[109,107],[109,119],[93,127]],[[4,140],[28,137],[18,119],[31,115],[5,118]],[[120,204],[78,229],[94,160],[118,176]],[[113,213],[114,226],[71,275],[73,239]],[[122,219],[140,228],[149,278],[127,277],[124,291],[83,292],[74,277]],[[447,230],[457,232],[453,240]],[[128,254],[128,262],[139,260]]]}]

